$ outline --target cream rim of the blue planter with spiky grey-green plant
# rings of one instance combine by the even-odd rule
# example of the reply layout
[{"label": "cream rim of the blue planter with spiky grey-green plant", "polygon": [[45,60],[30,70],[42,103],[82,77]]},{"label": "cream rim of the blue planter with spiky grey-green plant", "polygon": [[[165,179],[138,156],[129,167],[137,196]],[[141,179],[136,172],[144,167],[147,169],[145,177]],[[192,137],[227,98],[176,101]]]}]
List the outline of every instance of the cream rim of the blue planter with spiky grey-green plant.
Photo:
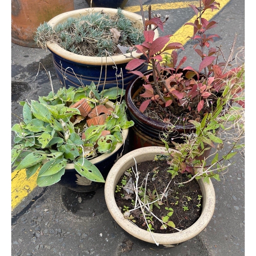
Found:
[{"label": "cream rim of the blue planter with spiky grey-green plant", "polygon": [[[54,28],[58,24],[65,22],[69,17],[78,17],[80,15],[87,15],[89,12],[100,12],[104,11],[105,13],[108,13],[110,15],[114,15],[117,13],[117,9],[112,9],[112,8],[85,8],[85,9],[79,9],[79,10],[74,10],[70,12],[65,12],[61,13],[51,20],[49,20],[48,24]],[[122,13],[125,15],[126,18],[131,19],[137,28],[143,28],[143,22],[142,22],[142,17],[139,14],[129,12],[122,10]],[[155,30],[155,37],[158,37],[158,31]],[[90,65],[114,65],[114,64],[121,64],[121,63],[126,63],[132,60],[133,58],[127,58],[125,56],[130,56],[130,53],[127,54],[120,54],[120,55],[115,55],[115,56],[108,56],[108,57],[91,57],[91,56],[83,56],[79,54],[75,54],[69,51],[66,51],[65,49],[61,48],[58,44],[55,42],[47,42],[47,47],[54,52],[55,54],[59,55],[62,58],[78,62],[81,64],[90,64]],[[134,57],[139,58],[142,54],[140,53],[133,53]]]}]

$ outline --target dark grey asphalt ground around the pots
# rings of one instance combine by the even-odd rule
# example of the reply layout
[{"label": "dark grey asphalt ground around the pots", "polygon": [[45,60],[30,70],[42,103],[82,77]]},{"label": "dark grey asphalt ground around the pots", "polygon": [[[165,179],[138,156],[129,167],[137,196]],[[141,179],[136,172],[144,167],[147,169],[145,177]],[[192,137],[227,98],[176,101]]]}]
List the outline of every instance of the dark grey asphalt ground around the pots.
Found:
[{"label": "dark grey asphalt ground around the pots", "polygon": [[[175,2],[179,1],[148,0],[143,1],[143,4],[164,6],[166,3]],[[234,34],[238,32],[237,47],[243,47],[244,1],[217,0],[217,2],[224,3],[225,6],[214,17],[218,22],[214,33],[221,36],[216,41],[216,45],[222,45],[223,51],[229,52]],[[88,7],[85,0],[74,0],[74,3],[75,9]],[[185,4],[188,3],[185,2]],[[125,8],[138,5],[139,1],[129,0]],[[177,8],[162,8],[157,11],[162,15],[170,15],[165,33],[175,33],[193,16],[188,8],[178,7],[177,4]],[[193,44],[188,43],[185,49],[189,50],[192,47]],[[18,101],[37,99],[38,96],[47,95],[51,91],[45,70],[51,74],[54,90],[57,91],[61,86],[49,51],[12,43],[11,55],[11,110],[20,116],[21,108]],[[196,62],[195,59],[191,61],[192,64]],[[12,125],[17,121],[17,117],[12,115]],[[59,184],[33,189],[24,187],[28,190],[27,195],[12,207],[11,211],[11,254],[9,255],[245,255],[244,155],[237,157],[236,163],[230,167],[229,172],[220,182],[213,181],[213,183],[216,192],[216,208],[208,226],[197,237],[176,247],[164,249],[134,240],[115,223],[104,201],[104,188],[92,193],[76,193]],[[12,193],[15,194],[13,188]]]}]

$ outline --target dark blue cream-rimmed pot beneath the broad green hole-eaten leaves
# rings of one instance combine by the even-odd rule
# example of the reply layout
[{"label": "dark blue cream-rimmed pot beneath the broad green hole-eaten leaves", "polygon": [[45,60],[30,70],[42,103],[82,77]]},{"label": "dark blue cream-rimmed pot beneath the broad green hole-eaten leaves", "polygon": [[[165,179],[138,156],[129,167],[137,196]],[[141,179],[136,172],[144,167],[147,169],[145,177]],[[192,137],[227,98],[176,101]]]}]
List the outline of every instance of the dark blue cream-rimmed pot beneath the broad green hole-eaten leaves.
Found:
[{"label": "dark blue cream-rimmed pot beneath the broad green hole-eaten leaves", "polygon": [[[123,130],[124,143],[128,136],[128,132],[129,129]],[[100,170],[100,173],[102,174],[104,180],[108,176],[109,171],[114,163],[120,158],[120,155],[123,153],[124,143],[118,143],[116,149],[112,153],[102,154],[90,160],[90,162],[92,162]],[[73,191],[83,193],[95,191],[98,188],[104,186],[104,183],[90,181],[87,178],[79,175],[74,168],[74,164],[67,164],[65,174],[61,176],[58,184],[60,184],[61,186],[65,186]]]}]

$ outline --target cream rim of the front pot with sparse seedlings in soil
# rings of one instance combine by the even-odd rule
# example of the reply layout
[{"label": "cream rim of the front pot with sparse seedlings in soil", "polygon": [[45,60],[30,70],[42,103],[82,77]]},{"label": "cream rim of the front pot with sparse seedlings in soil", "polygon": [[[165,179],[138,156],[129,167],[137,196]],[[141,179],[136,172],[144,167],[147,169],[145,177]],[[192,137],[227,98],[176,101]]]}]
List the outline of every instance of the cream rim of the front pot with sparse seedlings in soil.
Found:
[{"label": "cream rim of the front pot with sparse seedlings in soil", "polygon": [[[200,185],[202,195],[203,195],[203,209],[200,218],[189,228],[186,228],[180,232],[170,233],[170,234],[162,234],[162,233],[152,233],[146,230],[143,230],[137,227],[131,221],[125,219],[123,217],[122,212],[117,207],[115,201],[115,189],[116,184],[124,171],[129,169],[131,166],[135,164],[134,158],[136,162],[143,162],[147,160],[153,160],[156,154],[165,152],[165,147],[160,146],[148,146],[143,148],[138,148],[130,153],[125,154],[122,158],[120,158],[114,166],[111,168],[108,177],[106,178],[104,195],[106,205],[110,211],[110,214],[117,222],[117,224],[123,228],[126,232],[130,233],[132,236],[148,242],[148,243],[159,243],[166,247],[172,247],[175,244],[179,244],[185,242],[199,234],[203,229],[208,225],[212,216],[214,215],[215,210],[215,190],[212,182],[209,184],[203,182],[202,179],[198,180]],[[154,236],[154,239],[152,237]]]}]

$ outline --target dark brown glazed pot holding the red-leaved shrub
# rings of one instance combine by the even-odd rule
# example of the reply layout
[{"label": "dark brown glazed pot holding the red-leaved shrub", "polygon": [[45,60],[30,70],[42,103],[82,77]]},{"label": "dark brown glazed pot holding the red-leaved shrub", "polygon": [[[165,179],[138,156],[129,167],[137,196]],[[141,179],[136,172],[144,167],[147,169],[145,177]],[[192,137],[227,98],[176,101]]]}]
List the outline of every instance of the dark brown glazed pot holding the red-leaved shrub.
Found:
[{"label": "dark brown glazed pot holding the red-leaved shrub", "polygon": [[[152,71],[146,71],[145,74]],[[133,99],[140,94],[142,90],[143,79],[135,78],[125,92],[125,102],[127,105],[127,113],[129,118],[134,121],[134,126],[130,130],[129,138],[134,141],[132,150],[144,146],[163,146],[164,143],[159,139],[159,134],[166,132],[168,123],[154,120],[141,113],[133,102]],[[191,133],[195,126],[191,123],[186,125],[175,125],[175,133],[169,134],[169,141],[182,142],[179,139],[181,133]]]}]

